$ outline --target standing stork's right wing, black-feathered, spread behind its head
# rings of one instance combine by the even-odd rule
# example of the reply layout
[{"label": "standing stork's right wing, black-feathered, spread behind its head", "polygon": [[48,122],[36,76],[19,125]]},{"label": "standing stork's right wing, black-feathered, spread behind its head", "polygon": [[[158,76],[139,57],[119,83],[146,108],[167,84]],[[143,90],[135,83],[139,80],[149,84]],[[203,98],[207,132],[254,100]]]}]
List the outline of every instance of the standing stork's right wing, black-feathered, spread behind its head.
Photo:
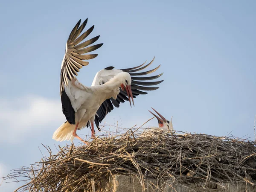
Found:
[{"label": "standing stork's right wing, black-feathered, spread behind its head", "polygon": [[[133,97],[136,98],[136,96],[138,96],[138,95],[147,94],[148,93],[147,91],[158,89],[159,87],[151,87],[151,86],[154,86],[154,85],[157,85],[157,84],[160,84],[161,82],[163,82],[163,80],[150,81],[150,80],[159,78],[160,76],[163,75],[163,73],[156,75],[156,76],[145,76],[145,75],[151,74],[151,73],[155,72],[156,70],[158,70],[160,65],[152,70],[134,73],[134,72],[138,72],[138,71],[141,71],[141,70],[147,68],[148,66],[150,66],[153,63],[153,61],[154,61],[154,58],[150,63],[146,64],[145,66],[144,66],[145,63],[143,63],[142,65],[137,66],[137,67],[121,69],[121,70],[115,70],[115,69],[113,69],[113,67],[107,67],[107,68],[105,68],[105,70],[98,72],[99,74],[98,73],[96,74],[96,76],[97,75],[98,76],[95,77],[95,79],[101,79],[99,76],[106,76],[105,75],[106,73],[108,73],[108,75],[105,77],[105,79],[108,79],[109,76],[116,75],[115,73],[120,73],[122,71],[128,72],[131,75],[132,94],[133,94]],[[99,84],[104,84],[105,82],[100,81]],[[118,94],[116,100],[113,98],[106,99],[102,103],[102,105],[99,107],[97,114],[95,116],[95,119],[94,119],[94,122],[95,122],[97,128],[100,130],[99,123],[102,122],[102,120],[105,118],[105,116],[108,113],[110,113],[114,109],[114,107],[118,108],[120,103],[123,103],[128,100],[129,99],[128,99],[128,95],[127,95],[126,91],[123,91],[121,88],[120,88],[120,93]]]}]

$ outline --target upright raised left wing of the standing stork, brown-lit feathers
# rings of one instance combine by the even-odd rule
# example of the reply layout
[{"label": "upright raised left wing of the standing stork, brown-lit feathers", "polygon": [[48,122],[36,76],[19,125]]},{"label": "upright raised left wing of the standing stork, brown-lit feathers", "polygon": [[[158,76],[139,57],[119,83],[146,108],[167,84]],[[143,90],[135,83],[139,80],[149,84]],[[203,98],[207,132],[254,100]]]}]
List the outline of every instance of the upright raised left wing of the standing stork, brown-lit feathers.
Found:
[{"label": "upright raised left wing of the standing stork, brown-lit feathers", "polygon": [[[76,26],[71,31],[66,44],[65,55],[61,64],[61,76],[60,76],[60,92],[61,92],[61,103],[62,111],[66,116],[66,119],[70,124],[76,124],[75,122],[75,111],[72,108],[71,102],[67,94],[65,93],[64,87],[66,87],[75,76],[77,72],[83,66],[89,64],[88,60],[95,58],[97,54],[85,54],[99,49],[103,44],[92,45],[95,41],[99,39],[96,36],[92,39],[82,42],[88,35],[93,31],[94,26],[90,27],[83,34],[81,32],[87,24],[88,18],[80,25],[81,19],[78,21]],[[81,35],[80,35],[81,34]]]}]

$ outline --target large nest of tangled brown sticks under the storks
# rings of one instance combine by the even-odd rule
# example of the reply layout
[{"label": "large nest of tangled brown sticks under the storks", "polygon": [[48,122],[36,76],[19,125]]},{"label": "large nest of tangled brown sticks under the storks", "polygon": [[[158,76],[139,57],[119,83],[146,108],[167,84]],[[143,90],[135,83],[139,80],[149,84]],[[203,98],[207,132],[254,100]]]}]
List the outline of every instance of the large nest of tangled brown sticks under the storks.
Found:
[{"label": "large nest of tangled brown sticks under the storks", "polygon": [[[137,133],[137,132],[136,132]],[[206,134],[153,132],[150,137],[131,129],[98,137],[89,145],[67,145],[31,167],[16,169],[5,179],[26,181],[17,191],[106,191],[115,174],[156,179],[161,191],[169,182],[221,183],[256,180],[256,143]],[[176,132],[177,133],[177,132]],[[25,178],[25,179],[23,179]],[[92,183],[93,179],[93,183]]]}]

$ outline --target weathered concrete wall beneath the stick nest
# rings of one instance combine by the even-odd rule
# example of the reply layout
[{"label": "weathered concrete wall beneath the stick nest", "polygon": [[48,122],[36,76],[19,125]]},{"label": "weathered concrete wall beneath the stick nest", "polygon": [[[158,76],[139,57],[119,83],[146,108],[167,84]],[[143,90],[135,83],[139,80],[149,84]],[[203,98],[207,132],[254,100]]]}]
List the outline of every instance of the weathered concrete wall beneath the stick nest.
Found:
[{"label": "weathered concrete wall beneath the stick nest", "polygon": [[[256,186],[250,183],[220,183],[219,185],[214,183],[192,183],[192,184],[175,184],[173,186],[166,185],[164,192],[256,192]],[[145,182],[146,192],[157,192],[156,180],[152,179],[150,182]],[[111,180],[111,192],[142,192],[140,180],[137,177],[126,175],[114,175]]]}]

